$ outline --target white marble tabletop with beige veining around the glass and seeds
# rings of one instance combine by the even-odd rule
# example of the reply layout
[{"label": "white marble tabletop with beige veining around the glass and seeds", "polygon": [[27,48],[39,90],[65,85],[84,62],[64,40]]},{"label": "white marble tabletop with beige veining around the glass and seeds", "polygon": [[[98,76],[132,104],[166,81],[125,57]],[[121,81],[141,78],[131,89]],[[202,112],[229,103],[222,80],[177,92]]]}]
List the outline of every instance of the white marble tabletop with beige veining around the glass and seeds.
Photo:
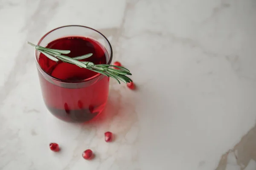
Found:
[{"label": "white marble tabletop with beige veining around the glass and seeds", "polygon": [[[84,125],[47,111],[26,45],[72,24],[137,85]],[[0,25],[0,170],[256,170],[256,0],[0,0]]]}]

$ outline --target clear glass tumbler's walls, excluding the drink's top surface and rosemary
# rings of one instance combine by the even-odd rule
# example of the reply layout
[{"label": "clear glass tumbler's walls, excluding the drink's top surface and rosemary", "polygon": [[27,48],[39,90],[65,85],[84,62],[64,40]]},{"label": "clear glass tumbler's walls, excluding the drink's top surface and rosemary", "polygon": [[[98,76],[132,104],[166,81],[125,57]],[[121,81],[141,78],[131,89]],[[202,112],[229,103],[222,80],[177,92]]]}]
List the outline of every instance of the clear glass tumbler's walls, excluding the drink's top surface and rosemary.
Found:
[{"label": "clear glass tumbler's walls, excluding the drink's top surface and rosemary", "polygon": [[[108,53],[106,62],[111,64],[113,51],[110,42],[102,33],[86,26],[55,28],[45,34],[38,45],[45,47],[62,37],[89,37],[100,42]],[[40,52],[35,51],[41,92],[47,109],[54,116],[66,122],[87,122],[103,111],[108,99],[109,77],[96,74],[76,81],[57,79],[41,68],[39,55]]]}]

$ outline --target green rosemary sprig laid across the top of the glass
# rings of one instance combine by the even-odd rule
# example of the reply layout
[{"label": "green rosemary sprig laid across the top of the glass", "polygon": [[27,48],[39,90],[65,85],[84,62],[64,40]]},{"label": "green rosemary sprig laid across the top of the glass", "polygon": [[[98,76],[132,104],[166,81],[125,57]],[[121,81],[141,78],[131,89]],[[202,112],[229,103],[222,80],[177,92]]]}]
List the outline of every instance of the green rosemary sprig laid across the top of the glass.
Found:
[{"label": "green rosemary sprig laid across the top of the glass", "polygon": [[[35,45],[31,42],[27,42],[27,43],[32,47],[34,47],[35,50],[41,52],[46,57],[48,57],[49,59],[55,62],[58,62],[59,60],[61,60],[62,62],[67,62],[70,64],[77,65],[81,68],[86,68],[88,70],[95,71],[97,73],[116,79],[116,81],[119,82],[119,84],[120,84],[119,80],[121,80],[124,83],[132,82],[132,80],[126,76],[126,75],[131,75],[130,71],[127,68],[116,66],[116,65],[108,65],[108,64],[95,65],[93,62],[79,61],[79,59],[86,59],[91,57],[93,55],[92,53],[71,58],[71,57],[62,55],[62,54],[69,54],[70,53],[69,50],[51,49],[51,48],[42,47],[40,45]],[[111,67],[116,67],[119,69],[117,70]]]}]

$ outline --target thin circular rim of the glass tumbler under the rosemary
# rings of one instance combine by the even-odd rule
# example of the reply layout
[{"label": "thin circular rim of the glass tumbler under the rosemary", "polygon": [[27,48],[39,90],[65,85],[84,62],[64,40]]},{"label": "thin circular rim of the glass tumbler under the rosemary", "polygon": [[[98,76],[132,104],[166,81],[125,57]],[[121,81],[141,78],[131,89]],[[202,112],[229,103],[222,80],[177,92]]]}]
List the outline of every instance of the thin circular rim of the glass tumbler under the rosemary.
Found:
[{"label": "thin circular rim of the glass tumbler under the rosemary", "polygon": [[[47,35],[49,35],[49,34],[52,33],[53,31],[56,31],[56,30],[58,30],[58,29],[60,29],[60,28],[64,28],[64,27],[83,27],[83,28],[88,28],[88,29],[90,29],[90,30],[92,30],[92,31],[95,31],[95,32],[99,33],[99,34],[108,42],[108,45],[109,45],[109,48],[110,48],[110,58],[109,58],[109,61],[108,61],[107,64],[111,64],[112,58],[113,58],[113,50],[112,50],[112,46],[111,46],[110,42],[108,41],[107,37],[105,37],[105,35],[103,35],[103,34],[102,34],[101,32],[99,32],[99,31],[97,31],[96,29],[93,29],[93,28],[90,28],[90,27],[87,27],[87,26],[81,26],[81,25],[67,25],[67,26],[61,26],[61,27],[52,29],[51,31],[48,31],[46,34],[44,34],[43,37],[41,37],[41,39],[38,41],[37,45],[40,45],[40,43],[44,40],[44,38],[45,38]],[[35,50],[35,62],[36,62],[37,68],[40,69],[40,71],[43,71],[43,73],[46,74],[46,76],[47,76],[48,78],[50,78],[50,79],[54,79],[54,80],[57,80],[57,81],[60,81],[60,82],[63,82],[63,83],[71,83],[71,84],[72,84],[72,83],[88,82],[88,81],[90,81],[90,80],[96,79],[96,78],[99,77],[99,76],[105,76],[105,75],[102,75],[102,74],[100,74],[100,73],[97,73],[97,74],[95,74],[95,75],[92,76],[92,77],[89,77],[89,78],[87,78],[87,79],[82,79],[82,80],[63,80],[63,79],[58,79],[58,78],[56,78],[56,77],[52,77],[50,74],[48,74],[46,71],[44,71],[44,70],[41,68],[41,66],[40,66],[40,64],[39,64],[39,62],[38,62],[38,60],[37,60],[37,54],[38,54],[38,53],[37,53],[37,50]],[[85,68],[85,69],[86,69],[86,68]]]}]

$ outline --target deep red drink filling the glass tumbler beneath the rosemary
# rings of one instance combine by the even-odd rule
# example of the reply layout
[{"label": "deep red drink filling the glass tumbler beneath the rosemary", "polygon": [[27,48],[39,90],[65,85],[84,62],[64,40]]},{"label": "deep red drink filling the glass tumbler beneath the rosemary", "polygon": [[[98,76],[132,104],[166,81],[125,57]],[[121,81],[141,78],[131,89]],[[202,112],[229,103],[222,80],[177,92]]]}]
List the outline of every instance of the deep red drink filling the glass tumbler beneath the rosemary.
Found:
[{"label": "deep red drink filling the glass tumbler beneath the rosemary", "polygon": [[[81,61],[94,64],[106,64],[106,59],[109,59],[105,48],[87,37],[60,38],[50,42],[46,48],[70,50],[70,54],[64,54],[69,57],[93,53]],[[54,116],[67,122],[86,122],[102,112],[108,98],[108,77],[100,75],[83,81],[97,73],[73,64],[54,62],[44,54],[40,54],[38,62],[47,74],[59,79],[47,80],[39,72],[44,102]]]}]

